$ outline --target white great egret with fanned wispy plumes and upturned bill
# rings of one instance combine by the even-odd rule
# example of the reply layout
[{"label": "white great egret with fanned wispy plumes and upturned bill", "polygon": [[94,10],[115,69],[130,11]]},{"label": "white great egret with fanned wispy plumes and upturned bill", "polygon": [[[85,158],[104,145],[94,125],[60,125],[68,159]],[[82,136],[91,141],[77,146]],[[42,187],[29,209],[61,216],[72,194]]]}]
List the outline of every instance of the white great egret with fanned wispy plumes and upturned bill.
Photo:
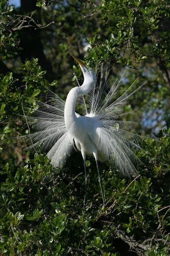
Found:
[{"label": "white great egret with fanned wispy plumes and upturned bill", "polygon": [[[123,83],[123,76],[112,85],[108,83],[108,74],[96,84],[96,74],[90,67],[86,67],[78,58],[72,57],[79,63],[84,76],[82,86],[74,87],[68,93],[66,102],[51,91],[50,102],[39,102],[40,108],[35,117],[28,117],[37,132],[28,135],[34,142],[29,148],[39,145],[42,150],[51,148],[47,156],[51,158],[54,167],[61,167],[71,151],[76,148],[81,151],[85,167],[85,199],[87,190],[86,155],[94,156],[99,175],[99,184],[105,205],[102,183],[99,174],[98,160],[107,161],[111,167],[116,167],[123,175],[131,177],[136,173],[132,160],[138,160],[131,148],[139,149],[137,144],[140,137],[130,133],[128,128],[133,127],[130,121],[121,121],[124,106],[136,90],[135,82],[119,97],[113,101],[117,90]],[[88,94],[87,111],[84,95]],[[85,107],[85,116],[75,113],[77,98]],[[124,114],[124,113],[123,113]]]}]

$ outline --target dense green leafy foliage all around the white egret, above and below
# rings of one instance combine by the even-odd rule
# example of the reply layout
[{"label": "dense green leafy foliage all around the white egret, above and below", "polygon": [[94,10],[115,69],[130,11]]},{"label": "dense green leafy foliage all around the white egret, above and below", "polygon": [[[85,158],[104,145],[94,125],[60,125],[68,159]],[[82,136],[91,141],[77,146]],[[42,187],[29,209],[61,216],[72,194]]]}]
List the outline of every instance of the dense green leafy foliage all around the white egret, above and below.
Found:
[{"label": "dense green leafy foliage all around the white egret, above and below", "polygon": [[[21,0],[20,8],[1,0],[0,255],[168,255],[169,8],[167,0]],[[89,157],[83,209],[81,155],[71,155],[65,169],[54,169],[45,152],[26,152],[31,142],[14,137],[30,133],[26,116],[38,108],[38,99],[45,101],[46,87],[66,98],[74,64],[68,53],[83,58],[88,43],[85,64],[107,62],[114,66],[111,76],[122,65],[131,67],[120,94],[137,76],[136,86],[147,80],[126,107],[135,111],[126,120],[139,121],[142,135],[161,142],[144,140],[135,152],[143,162],[136,166],[141,175],[136,180],[100,163],[105,207]],[[73,70],[72,81],[81,84],[77,64]]]}]

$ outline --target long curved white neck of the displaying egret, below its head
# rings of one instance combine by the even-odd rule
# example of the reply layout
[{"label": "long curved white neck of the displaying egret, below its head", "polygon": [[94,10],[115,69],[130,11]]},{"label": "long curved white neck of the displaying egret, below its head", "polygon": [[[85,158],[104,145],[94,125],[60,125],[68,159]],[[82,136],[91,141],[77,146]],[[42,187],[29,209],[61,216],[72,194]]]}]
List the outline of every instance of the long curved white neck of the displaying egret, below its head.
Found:
[{"label": "long curved white neck of the displaying egret, below its head", "polygon": [[89,93],[89,91],[94,87],[94,84],[94,80],[84,81],[82,86],[75,87],[68,93],[64,109],[65,126],[67,129],[69,129],[69,127],[71,127],[71,125],[73,125],[77,119],[75,114],[77,97]]}]

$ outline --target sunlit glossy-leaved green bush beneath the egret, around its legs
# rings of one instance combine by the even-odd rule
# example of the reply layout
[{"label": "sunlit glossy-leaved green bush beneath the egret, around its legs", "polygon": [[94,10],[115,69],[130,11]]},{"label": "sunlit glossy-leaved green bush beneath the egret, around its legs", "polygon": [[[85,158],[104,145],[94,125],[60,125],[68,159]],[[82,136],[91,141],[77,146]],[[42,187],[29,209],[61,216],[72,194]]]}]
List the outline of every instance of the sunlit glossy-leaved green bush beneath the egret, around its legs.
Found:
[{"label": "sunlit glossy-leaved green bush beneath the egret, around its legs", "polygon": [[131,183],[126,192],[130,181],[102,166],[105,198],[112,199],[105,208],[100,207],[100,187],[92,158],[88,161],[86,209],[82,209],[85,184],[84,175],[79,175],[81,156],[75,167],[74,158],[70,157],[64,170],[53,169],[42,154],[35,154],[34,160],[16,173],[6,164],[1,173],[6,173],[7,179],[0,186],[1,255],[66,255],[68,247],[78,252],[82,249],[83,255],[123,255],[116,246],[117,238],[127,242],[138,255],[167,255],[168,134],[162,142],[158,148],[151,139],[144,142],[147,153],[138,153],[145,165],[140,172],[142,177]]}]

